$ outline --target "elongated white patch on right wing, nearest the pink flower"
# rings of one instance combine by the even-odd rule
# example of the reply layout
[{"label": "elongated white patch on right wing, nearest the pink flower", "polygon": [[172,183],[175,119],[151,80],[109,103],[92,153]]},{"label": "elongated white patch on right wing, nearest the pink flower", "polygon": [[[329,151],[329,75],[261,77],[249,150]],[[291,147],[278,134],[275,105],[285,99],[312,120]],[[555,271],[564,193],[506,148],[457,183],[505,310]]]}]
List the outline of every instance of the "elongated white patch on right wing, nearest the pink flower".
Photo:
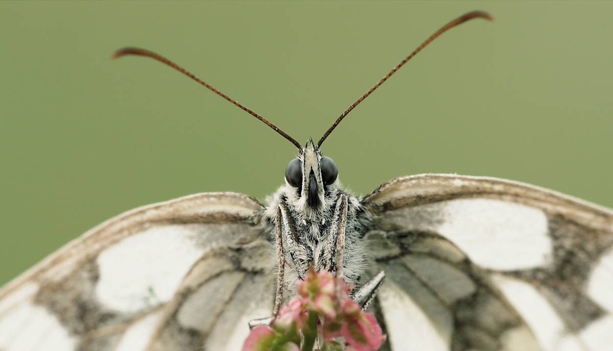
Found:
[{"label": "elongated white patch on right wing, nearest the pink flower", "polygon": [[[393,350],[450,349],[451,331],[441,335],[430,316],[398,285],[386,281],[378,295]],[[451,328],[451,317],[448,322]],[[408,349],[408,345],[411,345],[411,349]]]}]

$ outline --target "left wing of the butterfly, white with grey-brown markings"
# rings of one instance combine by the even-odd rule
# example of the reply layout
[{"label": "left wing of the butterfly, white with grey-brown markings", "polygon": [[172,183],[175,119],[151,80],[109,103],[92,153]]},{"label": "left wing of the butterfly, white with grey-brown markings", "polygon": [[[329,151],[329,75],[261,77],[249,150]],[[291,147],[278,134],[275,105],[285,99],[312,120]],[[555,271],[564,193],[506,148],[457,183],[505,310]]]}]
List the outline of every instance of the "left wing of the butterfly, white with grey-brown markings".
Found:
[{"label": "left wing of the butterfly, white with grey-brown markings", "polygon": [[0,290],[0,350],[238,350],[267,317],[263,206],[229,192],[134,209]]}]

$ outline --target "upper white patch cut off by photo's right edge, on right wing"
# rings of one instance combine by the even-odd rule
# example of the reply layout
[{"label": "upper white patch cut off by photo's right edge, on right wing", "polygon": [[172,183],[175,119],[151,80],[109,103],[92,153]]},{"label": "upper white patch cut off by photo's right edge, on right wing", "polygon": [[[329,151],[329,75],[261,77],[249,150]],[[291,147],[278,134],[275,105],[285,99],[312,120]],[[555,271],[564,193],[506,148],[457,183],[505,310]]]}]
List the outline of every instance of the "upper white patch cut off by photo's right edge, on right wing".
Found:
[{"label": "upper white patch cut off by photo's right edge, on right wing", "polygon": [[[600,306],[613,313],[613,250],[604,254],[596,263],[590,274],[587,293]],[[611,345],[613,347],[613,343]]]}]

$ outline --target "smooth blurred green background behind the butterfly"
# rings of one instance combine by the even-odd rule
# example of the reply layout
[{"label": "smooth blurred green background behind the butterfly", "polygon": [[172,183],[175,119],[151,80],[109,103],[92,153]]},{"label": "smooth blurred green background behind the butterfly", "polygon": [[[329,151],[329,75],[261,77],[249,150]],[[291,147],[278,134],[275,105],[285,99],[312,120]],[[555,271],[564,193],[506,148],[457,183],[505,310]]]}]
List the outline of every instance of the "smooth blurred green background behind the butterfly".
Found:
[{"label": "smooth blurred green background behind the butterfly", "polygon": [[[613,2],[0,2],[0,284],[123,211],[207,191],[263,200],[304,143],[469,10],[324,143],[352,191],[487,175],[613,206]],[[527,243],[530,244],[530,243]]]}]

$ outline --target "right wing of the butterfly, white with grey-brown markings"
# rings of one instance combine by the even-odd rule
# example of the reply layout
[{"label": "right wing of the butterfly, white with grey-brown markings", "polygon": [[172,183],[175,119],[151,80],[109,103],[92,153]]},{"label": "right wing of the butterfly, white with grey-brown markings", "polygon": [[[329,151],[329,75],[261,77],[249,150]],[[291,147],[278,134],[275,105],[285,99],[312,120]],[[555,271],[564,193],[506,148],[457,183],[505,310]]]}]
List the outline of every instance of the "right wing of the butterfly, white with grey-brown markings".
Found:
[{"label": "right wing of the butterfly, white with grey-brown markings", "polygon": [[364,204],[387,349],[611,349],[610,209],[458,175],[394,179]]}]

